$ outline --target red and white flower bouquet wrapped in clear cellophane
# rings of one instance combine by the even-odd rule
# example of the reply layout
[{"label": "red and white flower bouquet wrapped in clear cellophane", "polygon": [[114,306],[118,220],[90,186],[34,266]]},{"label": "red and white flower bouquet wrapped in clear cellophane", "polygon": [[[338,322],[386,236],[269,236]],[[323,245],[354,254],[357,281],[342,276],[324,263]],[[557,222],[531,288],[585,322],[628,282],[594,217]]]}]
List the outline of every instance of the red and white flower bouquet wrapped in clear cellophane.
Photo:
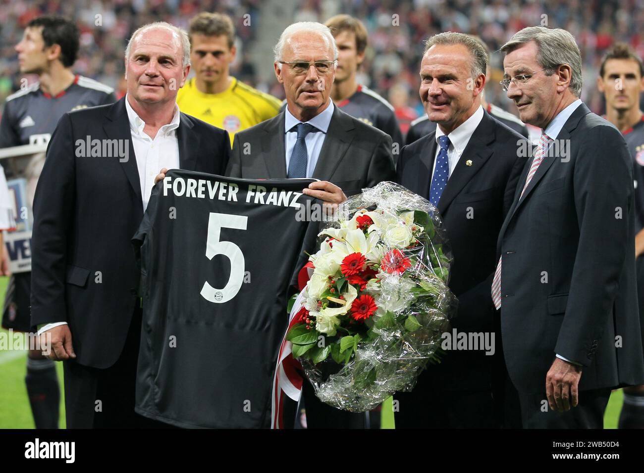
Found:
[{"label": "red and white flower bouquet wrapped in clear cellophane", "polygon": [[323,230],[286,340],[323,402],[367,411],[410,391],[454,301],[437,211],[383,182],[349,198]]}]

